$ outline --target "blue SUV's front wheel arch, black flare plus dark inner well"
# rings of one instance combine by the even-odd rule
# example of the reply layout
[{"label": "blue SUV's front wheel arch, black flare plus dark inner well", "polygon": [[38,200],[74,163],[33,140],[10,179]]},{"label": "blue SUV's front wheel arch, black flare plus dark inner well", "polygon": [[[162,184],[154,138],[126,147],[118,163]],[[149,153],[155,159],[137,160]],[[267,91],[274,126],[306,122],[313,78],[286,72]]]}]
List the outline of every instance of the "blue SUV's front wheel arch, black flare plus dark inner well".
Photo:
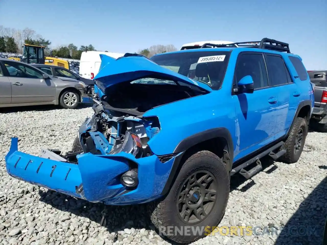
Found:
[{"label": "blue SUV's front wheel arch, black flare plus dark inner well", "polygon": [[[191,135],[183,139],[175,148],[174,154],[181,153],[174,159],[171,171],[167,178],[166,184],[163,187],[161,195],[168,193],[174,183],[179,169],[183,162],[192,154],[200,150],[209,150],[223,159],[226,162],[227,170],[232,170],[234,148],[232,135],[227,128],[219,127],[208,129],[203,132]],[[226,155],[226,152],[228,155]]]}]

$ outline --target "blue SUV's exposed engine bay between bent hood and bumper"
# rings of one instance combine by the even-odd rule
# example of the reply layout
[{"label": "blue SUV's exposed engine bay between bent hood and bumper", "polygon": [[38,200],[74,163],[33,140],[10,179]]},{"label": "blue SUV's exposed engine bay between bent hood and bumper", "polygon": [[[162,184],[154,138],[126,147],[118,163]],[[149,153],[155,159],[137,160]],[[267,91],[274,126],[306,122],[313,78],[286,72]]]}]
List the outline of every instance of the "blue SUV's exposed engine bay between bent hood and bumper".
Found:
[{"label": "blue SUV's exposed engine bay between bent hood and bumper", "polygon": [[[156,106],[198,96],[205,93],[192,86],[159,79],[146,83],[123,82],[110,86],[101,98],[94,99],[94,115],[86,119],[78,135],[80,150],[63,156],[70,162],[77,162],[81,153],[113,155],[120,152],[132,154],[135,158],[151,155],[147,142],[160,131],[158,117],[142,117],[142,114]],[[163,81],[163,82],[162,82]],[[135,82],[135,81],[134,81]],[[95,86],[96,87],[96,86]],[[92,96],[89,86],[85,92]]]}]

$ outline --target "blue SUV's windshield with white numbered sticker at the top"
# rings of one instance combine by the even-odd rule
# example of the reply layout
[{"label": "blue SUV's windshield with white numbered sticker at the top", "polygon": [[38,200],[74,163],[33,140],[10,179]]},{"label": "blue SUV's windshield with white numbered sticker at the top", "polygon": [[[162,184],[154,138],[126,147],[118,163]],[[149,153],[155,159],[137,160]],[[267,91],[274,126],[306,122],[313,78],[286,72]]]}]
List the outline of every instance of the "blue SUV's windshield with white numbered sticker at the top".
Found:
[{"label": "blue SUV's windshield with white numbered sticker at the top", "polygon": [[225,76],[229,51],[196,51],[153,56],[152,61],[218,90]]}]

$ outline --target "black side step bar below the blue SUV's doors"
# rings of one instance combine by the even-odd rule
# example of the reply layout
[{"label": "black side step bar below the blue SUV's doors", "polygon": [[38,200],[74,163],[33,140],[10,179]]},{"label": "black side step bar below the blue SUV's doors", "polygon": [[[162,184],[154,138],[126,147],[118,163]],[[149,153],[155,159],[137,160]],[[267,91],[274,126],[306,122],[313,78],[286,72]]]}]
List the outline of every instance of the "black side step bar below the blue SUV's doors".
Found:
[{"label": "black side step bar below the blue SUV's doors", "polygon": [[[271,156],[273,159],[275,159],[275,158],[277,159],[278,157],[284,155],[284,154],[286,153],[285,150],[279,151],[279,152],[277,152],[276,154],[272,152],[273,150],[276,150],[278,147],[281,147],[283,144],[284,144],[284,141],[281,141],[281,142],[277,143],[276,145],[274,145],[274,146],[268,148],[267,150],[263,151],[262,153],[260,153],[260,154],[258,154],[258,155],[256,155],[256,156],[252,157],[252,158],[249,159],[248,161],[246,161],[246,162],[244,162],[244,163],[238,165],[237,167],[233,168],[232,171],[231,171],[231,176],[234,175],[234,174],[237,173],[237,172],[240,172],[241,170],[243,170],[242,172],[243,172],[246,176],[250,176],[250,175],[247,175],[247,174],[245,173],[245,172],[247,172],[247,171],[245,171],[244,168],[247,167],[247,166],[249,166],[250,164],[252,164],[252,163],[254,163],[254,162],[257,163],[257,166],[255,166],[255,167],[254,167],[253,169],[251,169],[249,172],[250,172],[250,173],[253,173],[254,171],[259,172],[260,170],[262,170],[261,162],[260,162],[259,159],[260,159],[261,157],[266,156],[266,155]],[[273,154],[271,154],[271,153],[273,153]],[[275,158],[274,158],[274,157],[275,157]],[[275,160],[276,160],[276,159],[275,159]],[[258,162],[259,162],[259,163],[258,163]],[[261,167],[261,168],[260,168],[260,167]],[[253,176],[254,174],[256,174],[257,172],[254,172],[250,177],[252,177],[252,176]],[[249,173],[249,174],[250,174],[250,173]],[[241,173],[241,174],[242,174],[242,173]],[[243,175],[243,174],[242,174],[242,175]],[[244,176],[244,175],[243,175],[243,176]],[[244,176],[244,177],[246,177],[246,176]]]}]

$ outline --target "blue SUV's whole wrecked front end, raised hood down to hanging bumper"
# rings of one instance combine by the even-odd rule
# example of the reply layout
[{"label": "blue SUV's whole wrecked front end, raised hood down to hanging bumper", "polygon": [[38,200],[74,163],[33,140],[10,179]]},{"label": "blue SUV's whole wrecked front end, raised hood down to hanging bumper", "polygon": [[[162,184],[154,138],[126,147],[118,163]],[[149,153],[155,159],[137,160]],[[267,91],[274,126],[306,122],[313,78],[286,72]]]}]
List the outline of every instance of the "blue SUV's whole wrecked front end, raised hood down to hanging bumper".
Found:
[{"label": "blue SUV's whole wrecked front end, raised hood down to hanging bumper", "polygon": [[[79,128],[79,150],[61,155],[59,150],[42,149],[39,156],[28,155],[18,151],[18,139],[12,138],[6,155],[9,175],[105,204],[145,203],[163,194],[173,162],[183,153],[151,151],[161,125],[159,116],[150,111],[211,89],[143,56],[108,59],[102,59],[95,77],[98,99],[93,99],[94,115]],[[146,77],[162,85],[133,82]],[[157,140],[157,150],[168,142],[169,136],[167,142]]]}]

